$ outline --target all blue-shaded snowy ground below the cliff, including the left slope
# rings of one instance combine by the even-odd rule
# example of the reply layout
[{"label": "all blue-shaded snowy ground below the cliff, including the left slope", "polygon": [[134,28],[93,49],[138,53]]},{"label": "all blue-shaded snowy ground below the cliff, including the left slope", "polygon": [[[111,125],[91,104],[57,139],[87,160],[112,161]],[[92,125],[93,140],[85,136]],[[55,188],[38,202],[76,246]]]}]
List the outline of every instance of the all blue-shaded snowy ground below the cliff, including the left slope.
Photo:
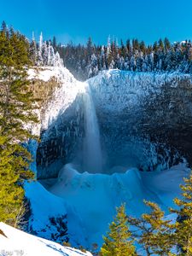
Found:
[{"label": "all blue-shaded snowy ground below the cliff, including the left slope", "polygon": [[[67,233],[73,246],[101,246],[115,207],[125,202],[127,213],[138,217],[148,212],[143,204],[145,199],[157,202],[168,214],[167,208],[173,207],[173,198],[181,192],[178,184],[183,183],[189,171],[185,164],[180,164],[162,172],[139,172],[134,168],[106,175],[79,173],[69,164],[49,191],[40,183],[27,183],[33,228],[42,230],[49,217],[67,213]],[[51,237],[51,232],[55,232],[55,227],[47,230],[46,237]],[[45,234],[38,232],[38,236],[42,235]]]}]

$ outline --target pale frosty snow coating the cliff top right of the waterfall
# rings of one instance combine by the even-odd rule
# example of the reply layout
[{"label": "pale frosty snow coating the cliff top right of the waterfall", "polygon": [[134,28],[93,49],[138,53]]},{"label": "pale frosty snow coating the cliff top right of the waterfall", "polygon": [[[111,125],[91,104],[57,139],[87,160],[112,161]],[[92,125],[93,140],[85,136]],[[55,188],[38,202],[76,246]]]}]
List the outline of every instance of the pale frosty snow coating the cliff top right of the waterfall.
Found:
[{"label": "pale frosty snow coating the cliff top right of the waterfall", "polygon": [[148,96],[159,94],[162,85],[172,82],[177,87],[177,80],[190,79],[183,73],[137,73],[112,69],[100,72],[89,79],[98,108],[108,112],[122,113],[126,108],[137,108],[146,101]]}]

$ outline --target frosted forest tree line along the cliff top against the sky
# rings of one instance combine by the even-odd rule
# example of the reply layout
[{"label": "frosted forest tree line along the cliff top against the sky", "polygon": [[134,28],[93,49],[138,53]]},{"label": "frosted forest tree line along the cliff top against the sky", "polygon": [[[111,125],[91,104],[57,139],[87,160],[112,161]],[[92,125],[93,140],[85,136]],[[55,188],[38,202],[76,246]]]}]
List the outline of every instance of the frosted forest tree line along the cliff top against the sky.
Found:
[{"label": "frosted forest tree line along the cliff top against the sky", "polygon": [[50,41],[59,52],[65,67],[80,80],[95,76],[99,71],[118,68],[135,72],[192,72],[192,44],[190,41],[174,43],[168,38],[154,44],[128,39],[120,44],[108,38],[107,45],[96,45],[88,39],[86,45],[73,43],[65,46]]}]

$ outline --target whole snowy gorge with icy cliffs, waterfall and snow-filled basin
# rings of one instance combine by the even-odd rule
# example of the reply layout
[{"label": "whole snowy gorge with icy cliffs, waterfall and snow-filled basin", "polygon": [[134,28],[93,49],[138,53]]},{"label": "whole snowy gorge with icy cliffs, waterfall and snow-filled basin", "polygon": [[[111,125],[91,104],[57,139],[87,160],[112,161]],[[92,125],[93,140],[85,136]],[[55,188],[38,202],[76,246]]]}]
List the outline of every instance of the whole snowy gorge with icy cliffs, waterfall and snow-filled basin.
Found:
[{"label": "whole snowy gorge with icy cliffs, waterfall and snow-filled basin", "polygon": [[[120,203],[135,216],[148,211],[143,199],[172,207],[192,160],[190,76],[109,70],[79,82],[65,67],[38,73],[45,84],[53,77],[34,166],[39,183],[26,184],[29,230],[90,248],[101,246]],[[53,217],[66,232],[52,227]]]}]

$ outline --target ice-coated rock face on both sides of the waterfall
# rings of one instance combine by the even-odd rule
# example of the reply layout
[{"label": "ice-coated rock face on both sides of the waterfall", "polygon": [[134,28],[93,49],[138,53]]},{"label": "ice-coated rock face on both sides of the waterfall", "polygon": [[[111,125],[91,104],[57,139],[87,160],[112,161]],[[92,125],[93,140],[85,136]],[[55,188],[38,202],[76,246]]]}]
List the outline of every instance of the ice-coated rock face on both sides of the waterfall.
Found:
[{"label": "ice-coated rock face on both sides of the waterfall", "polygon": [[[61,88],[42,120],[37,154],[40,179],[57,177],[61,166],[72,160],[81,164],[84,84],[66,69],[62,72]],[[104,172],[123,172],[130,166],[154,171],[182,157],[192,163],[189,75],[111,70],[87,83],[100,127]]]}]

